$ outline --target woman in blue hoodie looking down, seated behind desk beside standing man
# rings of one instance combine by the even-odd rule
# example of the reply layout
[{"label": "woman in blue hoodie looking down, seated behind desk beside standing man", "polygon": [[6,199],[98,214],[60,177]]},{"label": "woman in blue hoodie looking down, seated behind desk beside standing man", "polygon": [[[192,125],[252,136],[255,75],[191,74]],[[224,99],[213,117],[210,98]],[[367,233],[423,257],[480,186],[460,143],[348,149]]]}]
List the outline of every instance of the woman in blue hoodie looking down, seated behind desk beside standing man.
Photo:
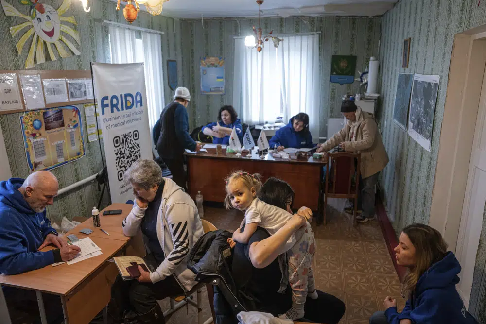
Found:
[{"label": "woman in blue hoodie looking down, seated behind desk beside standing man", "polygon": [[277,147],[282,151],[286,147],[300,149],[303,147],[313,148],[312,135],[309,132],[309,115],[298,113],[289,120],[289,123],[275,132],[268,142],[270,148]]}]

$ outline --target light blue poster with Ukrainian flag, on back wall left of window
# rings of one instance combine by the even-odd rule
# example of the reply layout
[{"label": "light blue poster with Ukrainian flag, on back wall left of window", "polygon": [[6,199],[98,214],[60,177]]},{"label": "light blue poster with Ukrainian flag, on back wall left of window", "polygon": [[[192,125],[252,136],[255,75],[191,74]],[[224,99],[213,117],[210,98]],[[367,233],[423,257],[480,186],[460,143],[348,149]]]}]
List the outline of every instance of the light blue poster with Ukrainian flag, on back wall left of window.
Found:
[{"label": "light blue poster with Ukrainian flag, on back wall left of window", "polygon": [[201,94],[225,94],[225,59],[222,57],[201,58]]}]

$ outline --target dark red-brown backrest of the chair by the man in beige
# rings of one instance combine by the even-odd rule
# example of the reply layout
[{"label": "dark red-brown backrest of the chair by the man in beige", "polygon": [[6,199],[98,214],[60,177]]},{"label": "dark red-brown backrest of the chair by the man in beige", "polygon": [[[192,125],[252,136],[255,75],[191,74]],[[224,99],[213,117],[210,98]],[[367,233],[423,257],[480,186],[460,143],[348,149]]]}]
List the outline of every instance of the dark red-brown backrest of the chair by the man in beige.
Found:
[{"label": "dark red-brown backrest of the chair by the man in beige", "polygon": [[328,153],[328,159],[326,194],[349,195],[350,198],[356,195],[360,178],[361,153],[333,152]]}]

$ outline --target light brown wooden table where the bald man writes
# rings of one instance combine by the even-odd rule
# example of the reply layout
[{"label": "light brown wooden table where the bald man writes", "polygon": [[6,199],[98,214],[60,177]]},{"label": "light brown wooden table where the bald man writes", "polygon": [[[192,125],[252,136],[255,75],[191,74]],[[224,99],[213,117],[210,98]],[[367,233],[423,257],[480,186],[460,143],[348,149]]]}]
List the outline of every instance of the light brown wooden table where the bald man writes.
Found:
[{"label": "light brown wooden table where the bald man writes", "polygon": [[[89,323],[108,304],[111,297],[111,285],[118,275],[115,263],[107,261],[113,256],[125,254],[131,246],[130,238],[121,237],[123,234],[121,222],[128,215],[131,207],[132,205],[113,204],[105,208],[108,210],[122,209],[121,215],[102,216],[103,211],[100,211],[101,224],[102,226],[105,224],[105,227],[102,228],[110,233],[109,236],[96,230],[90,235],[84,235],[76,230],[92,226],[92,219],[87,219],[68,232],[68,234],[75,234],[79,239],[86,237],[92,239],[101,248],[101,255],[71,265],[67,263],[56,267],[48,265],[16,275],[2,274],[0,284],[34,290],[42,324],[47,323],[42,300],[43,292],[61,297],[66,324]],[[48,249],[52,249],[52,247],[47,247],[46,251]],[[2,324],[11,323],[2,289],[0,289],[0,318]]]}]

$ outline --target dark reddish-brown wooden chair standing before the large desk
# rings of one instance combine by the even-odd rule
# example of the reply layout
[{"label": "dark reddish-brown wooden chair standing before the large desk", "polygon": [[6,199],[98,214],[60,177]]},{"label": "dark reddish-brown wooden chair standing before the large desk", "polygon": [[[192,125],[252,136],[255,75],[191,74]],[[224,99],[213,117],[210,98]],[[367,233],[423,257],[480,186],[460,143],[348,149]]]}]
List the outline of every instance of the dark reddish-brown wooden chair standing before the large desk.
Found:
[{"label": "dark reddish-brown wooden chair standing before the large desk", "polygon": [[328,205],[328,198],[354,199],[353,224],[356,224],[356,210],[358,208],[360,181],[360,163],[361,153],[328,153],[326,180],[323,181],[324,186],[321,185],[321,195],[322,193],[324,194],[324,210],[322,213],[324,218],[324,224],[326,224],[326,206]]}]

